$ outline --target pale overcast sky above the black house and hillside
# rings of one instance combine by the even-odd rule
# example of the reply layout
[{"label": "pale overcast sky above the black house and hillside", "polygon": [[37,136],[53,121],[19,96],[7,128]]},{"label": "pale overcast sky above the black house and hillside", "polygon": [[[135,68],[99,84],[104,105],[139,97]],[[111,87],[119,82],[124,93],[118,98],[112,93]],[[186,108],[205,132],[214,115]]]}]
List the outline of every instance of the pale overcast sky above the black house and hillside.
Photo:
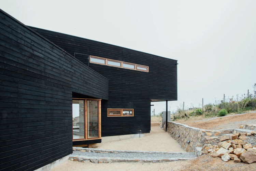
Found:
[{"label": "pale overcast sky above the black house and hillside", "polygon": [[[253,93],[255,0],[1,0],[0,8],[25,25],[178,60],[171,112],[183,102],[198,107],[202,98]],[[154,108],[161,112],[165,102]]]}]

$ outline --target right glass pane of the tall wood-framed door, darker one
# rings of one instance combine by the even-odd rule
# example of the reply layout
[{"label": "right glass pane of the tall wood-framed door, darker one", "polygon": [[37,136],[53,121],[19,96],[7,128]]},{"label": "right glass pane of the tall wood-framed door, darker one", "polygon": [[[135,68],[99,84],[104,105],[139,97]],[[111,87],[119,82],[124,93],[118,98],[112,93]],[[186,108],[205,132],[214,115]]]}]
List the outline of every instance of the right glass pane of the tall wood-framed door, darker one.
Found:
[{"label": "right glass pane of the tall wood-framed door, darker one", "polygon": [[88,138],[98,137],[98,101],[87,100]]}]

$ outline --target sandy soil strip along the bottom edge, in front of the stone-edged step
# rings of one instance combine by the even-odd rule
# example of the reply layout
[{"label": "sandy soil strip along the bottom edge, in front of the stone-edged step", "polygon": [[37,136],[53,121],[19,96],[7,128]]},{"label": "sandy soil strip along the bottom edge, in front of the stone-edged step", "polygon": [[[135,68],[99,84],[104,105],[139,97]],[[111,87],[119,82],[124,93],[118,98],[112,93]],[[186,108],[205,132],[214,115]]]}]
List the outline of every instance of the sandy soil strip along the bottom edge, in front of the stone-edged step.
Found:
[{"label": "sandy soil strip along the bottom edge, in front of the stone-edged step", "polygon": [[221,158],[203,155],[186,161],[166,163],[84,163],[71,161],[55,167],[52,171],[255,171],[256,163],[235,163],[233,160],[224,162]]}]

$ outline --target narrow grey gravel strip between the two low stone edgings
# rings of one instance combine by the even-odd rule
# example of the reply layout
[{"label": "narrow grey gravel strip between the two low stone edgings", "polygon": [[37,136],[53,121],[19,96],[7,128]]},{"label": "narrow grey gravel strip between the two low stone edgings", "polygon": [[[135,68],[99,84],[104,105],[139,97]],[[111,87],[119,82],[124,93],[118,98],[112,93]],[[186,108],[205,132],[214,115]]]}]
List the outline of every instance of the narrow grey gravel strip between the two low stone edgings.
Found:
[{"label": "narrow grey gravel strip between the two low stone edgings", "polygon": [[119,153],[95,153],[73,151],[72,155],[89,157],[107,157],[107,158],[194,158],[194,153],[141,153],[141,152],[119,152]]}]

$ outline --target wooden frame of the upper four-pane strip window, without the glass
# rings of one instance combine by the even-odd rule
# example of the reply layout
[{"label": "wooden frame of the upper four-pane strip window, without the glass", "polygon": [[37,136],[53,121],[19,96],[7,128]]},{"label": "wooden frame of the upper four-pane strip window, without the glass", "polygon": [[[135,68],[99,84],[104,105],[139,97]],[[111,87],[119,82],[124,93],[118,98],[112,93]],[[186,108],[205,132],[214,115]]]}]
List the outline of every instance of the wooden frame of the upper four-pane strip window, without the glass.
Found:
[{"label": "wooden frame of the upper four-pane strip window, without the glass", "polygon": [[[91,58],[104,60],[105,63],[93,62],[93,61],[91,61]],[[120,63],[120,66],[110,65],[110,64],[108,64],[108,61]],[[106,66],[117,67],[117,68],[125,68],[125,69],[129,69],[129,70],[136,70],[136,71],[142,71],[142,72],[148,72],[148,69],[149,69],[148,66],[138,65],[138,64],[129,63],[129,62],[122,62],[122,61],[113,60],[113,59],[101,58],[101,57],[97,57],[97,56],[90,56],[90,63],[96,63],[96,64],[99,64],[99,65],[106,65]],[[134,68],[124,67],[123,66],[124,64],[132,65],[132,66],[134,66]],[[146,70],[139,69],[138,67],[145,68]]]}]

